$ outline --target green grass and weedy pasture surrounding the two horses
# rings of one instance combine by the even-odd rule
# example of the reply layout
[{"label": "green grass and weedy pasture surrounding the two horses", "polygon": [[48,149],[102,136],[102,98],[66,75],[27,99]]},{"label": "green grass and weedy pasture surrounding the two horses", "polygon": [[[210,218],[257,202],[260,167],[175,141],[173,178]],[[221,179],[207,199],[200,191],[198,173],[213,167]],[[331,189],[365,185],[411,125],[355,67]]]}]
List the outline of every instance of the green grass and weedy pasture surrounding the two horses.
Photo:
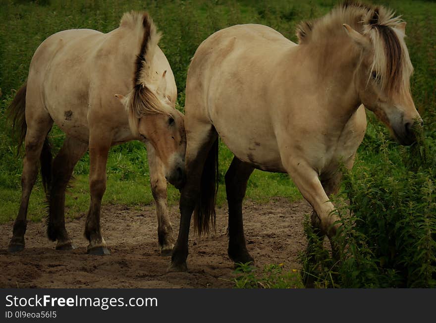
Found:
[{"label": "green grass and weedy pasture surrounding the two horses", "polygon": [[[325,249],[313,247],[299,257],[301,276],[305,278],[310,272],[319,287],[435,287],[436,3],[372,2],[395,9],[407,22],[406,44],[415,68],[412,96],[424,119],[425,130],[419,144],[401,147],[368,113],[367,134],[358,150],[355,167],[345,174],[341,193],[335,198],[341,214],[351,211],[351,216],[343,217],[345,234],[338,238],[341,262],[335,263]],[[123,12],[149,11],[163,32],[160,47],[174,72],[177,108],[183,111],[190,59],[213,32],[234,24],[261,23],[296,42],[294,31],[298,22],[320,17],[336,3],[336,0],[0,0],[0,223],[11,223],[21,194],[22,162],[16,156],[5,109],[26,80],[33,53],[48,36],[73,28],[108,32],[118,26]],[[51,140],[55,152],[63,140],[56,127]],[[218,208],[222,209],[226,208],[223,179],[231,159],[232,154],[220,144]],[[89,157],[85,155],[75,167],[75,181],[66,196],[68,217],[75,218],[87,211],[88,170]],[[129,206],[139,212],[153,202],[149,180],[147,153],[141,143],[113,147],[103,203]],[[179,193],[168,187],[168,203],[176,208]],[[262,205],[272,198],[288,202],[301,199],[286,174],[258,170],[249,180],[246,197]],[[350,201],[350,205],[341,203],[343,200]],[[38,180],[31,195],[28,219],[35,222],[43,219],[44,201]],[[178,218],[173,225],[178,227]],[[310,228],[307,225],[305,228],[309,239],[313,238]],[[5,245],[0,246],[1,250],[4,248]],[[259,284],[256,273],[250,270],[247,267],[240,270],[241,279],[248,277],[251,282],[242,287],[268,285]]]}]

